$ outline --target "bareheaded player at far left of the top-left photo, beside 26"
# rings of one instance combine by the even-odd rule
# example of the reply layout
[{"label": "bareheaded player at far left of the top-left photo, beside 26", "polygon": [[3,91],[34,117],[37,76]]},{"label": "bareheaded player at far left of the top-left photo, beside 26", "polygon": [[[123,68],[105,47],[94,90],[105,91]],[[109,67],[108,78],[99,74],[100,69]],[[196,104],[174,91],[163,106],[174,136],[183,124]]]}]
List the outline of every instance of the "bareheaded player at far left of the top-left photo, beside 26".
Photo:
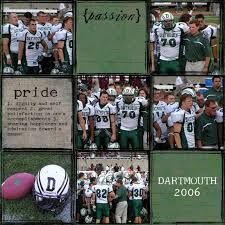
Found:
[{"label": "bareheaded player at far left of the top-left photo, beside 26", "polygon": [[18,37],[23,32],[24,27],[18,21],[16,13],[9,13],[9,23],[3,26],[3,54],[5,56],[5,64],[17,70],[19,43]]}]

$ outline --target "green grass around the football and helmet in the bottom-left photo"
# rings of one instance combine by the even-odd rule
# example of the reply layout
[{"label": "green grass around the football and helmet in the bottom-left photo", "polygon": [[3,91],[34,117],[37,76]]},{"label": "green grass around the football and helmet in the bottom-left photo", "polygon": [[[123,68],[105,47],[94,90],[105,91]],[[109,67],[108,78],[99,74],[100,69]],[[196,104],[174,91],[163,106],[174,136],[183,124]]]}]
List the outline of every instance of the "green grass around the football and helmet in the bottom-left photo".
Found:
[{"label": "green grass around the football and helmet in the bottom-left photo", "polygon": [[[62,166],[71,177],[71,157],[55,153],[4,153],[3,180],[16,172],[29,172],[34,175],[45,165]],[[70,208],[70,207],[69,207]],[[70,210],[69,210],[70,211]],[[70,212],[68,212],[70,216]],[[69,217],[67,216],[67,217]],[[68,220],[69,218],[67,218]],[[40,212],[32,202],[32,195],[20,200],[3,200],[3,221],[57,221],[51,213]]]}]

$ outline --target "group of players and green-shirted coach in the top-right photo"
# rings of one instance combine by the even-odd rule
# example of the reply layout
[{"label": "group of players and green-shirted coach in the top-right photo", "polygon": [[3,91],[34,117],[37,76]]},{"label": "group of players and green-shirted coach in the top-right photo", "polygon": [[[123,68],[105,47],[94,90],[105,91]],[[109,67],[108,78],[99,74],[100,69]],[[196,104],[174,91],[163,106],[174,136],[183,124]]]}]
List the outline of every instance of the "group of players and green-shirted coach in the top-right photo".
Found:
[{"label": "group of players and green-shirted coach in the top-right photo", "polygon": [[208,74],[217,71],[217,27],[203,14],[184,13],[175,22],[172,13],[153,9],[150,19],[150,71],[158,74]]}]

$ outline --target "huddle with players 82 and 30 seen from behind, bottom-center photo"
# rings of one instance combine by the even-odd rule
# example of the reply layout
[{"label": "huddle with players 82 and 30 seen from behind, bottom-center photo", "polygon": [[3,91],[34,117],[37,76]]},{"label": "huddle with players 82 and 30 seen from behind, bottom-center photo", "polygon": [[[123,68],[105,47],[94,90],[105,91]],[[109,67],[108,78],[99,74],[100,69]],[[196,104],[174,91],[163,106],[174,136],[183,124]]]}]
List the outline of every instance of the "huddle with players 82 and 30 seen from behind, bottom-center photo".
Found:
[{"label": "huddle with players 82 and 30 seen from behind, bottom-center photo", "polygon": [[[116,169],[118,168],[118,169]],[[80,223],[146,223],[149,212],[148,173],[116,165],[80,171],[76,219]]]}]

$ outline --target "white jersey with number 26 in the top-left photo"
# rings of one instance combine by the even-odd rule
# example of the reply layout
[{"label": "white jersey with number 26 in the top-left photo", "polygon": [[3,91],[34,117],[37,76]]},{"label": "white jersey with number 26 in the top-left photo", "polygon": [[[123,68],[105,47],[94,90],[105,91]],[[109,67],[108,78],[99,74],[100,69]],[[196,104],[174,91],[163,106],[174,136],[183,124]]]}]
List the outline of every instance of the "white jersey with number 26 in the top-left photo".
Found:
[{"label": "white jersey with number 26 in the top-left photo", "polygon": [[40,31],[36,31],[35,33],[31,33],[29,30],[25,30],[18,41],[23,41],[25,43],[25,59],[27,62],[27,66],[33,67],[38,66],[38,55],[39,55],[39,47],[40,42],[43,40],[43,34]]}]

